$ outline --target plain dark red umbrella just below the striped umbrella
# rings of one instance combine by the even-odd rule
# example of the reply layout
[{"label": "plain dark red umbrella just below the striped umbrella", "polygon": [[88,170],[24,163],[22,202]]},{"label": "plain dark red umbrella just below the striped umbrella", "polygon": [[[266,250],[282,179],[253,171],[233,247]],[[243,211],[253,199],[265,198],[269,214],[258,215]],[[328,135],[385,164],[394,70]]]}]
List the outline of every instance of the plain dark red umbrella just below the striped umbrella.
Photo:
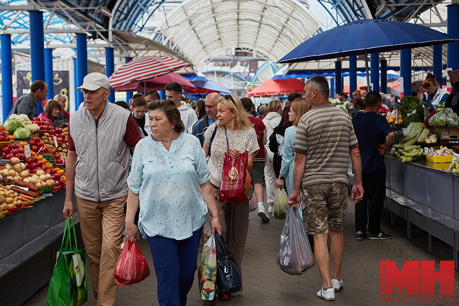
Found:
[{"label": "plain dark red umbrella just below the striped umbrella", "polygon": [[182,75],[175,72],[170,72],[162,75],[161,77],[156,77],[153,80],[117,87],[116,91],[146,92],[149,90],[164,90],[166,84],[170,82],[179,83],[183,89],[196,89],[196,87],[194,87],[193,84],[191,84],[184,77],[182,77]]}]

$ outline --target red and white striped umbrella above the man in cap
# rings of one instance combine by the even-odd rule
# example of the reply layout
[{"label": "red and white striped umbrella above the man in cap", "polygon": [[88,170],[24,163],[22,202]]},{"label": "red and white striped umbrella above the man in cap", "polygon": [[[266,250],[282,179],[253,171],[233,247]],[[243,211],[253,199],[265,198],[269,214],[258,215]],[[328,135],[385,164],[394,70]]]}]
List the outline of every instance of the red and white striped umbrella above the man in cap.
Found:
[{"label": "red and white striped umbrella above the man in cap", "polygon": [[116,70],[109,78],[110,88],[151,80],[190,64],[167,56],[141,57]]}]

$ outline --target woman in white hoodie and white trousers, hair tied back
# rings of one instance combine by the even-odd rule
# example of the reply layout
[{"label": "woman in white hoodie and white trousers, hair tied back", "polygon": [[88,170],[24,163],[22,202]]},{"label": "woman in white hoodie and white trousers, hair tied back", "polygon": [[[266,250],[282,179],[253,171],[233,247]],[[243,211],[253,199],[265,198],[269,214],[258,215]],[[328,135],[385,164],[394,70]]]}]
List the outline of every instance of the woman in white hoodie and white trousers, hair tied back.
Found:
[{"label": "woman in white hoodie and white trousers, hair tied back", "polygon": [[[281,122],[281,113],[282,113],[282,103],[279,100],[272,100],[268,104],[268,111],[269,113],[263,118],[263,123],[266,126],[264,131],[266,135],[266,139],[269,139],[274,128],[279,125]],[[271,152],[269,149],[269,140],[265,144],[265,181],[266,181],[266,195],[267,195],[267,202],[269,205],[268,213],[272,213],[273,205],[274,205],[274,195],[276,192],[276,175],[274,173],[274,164],[273,158],[274,153]]]}]

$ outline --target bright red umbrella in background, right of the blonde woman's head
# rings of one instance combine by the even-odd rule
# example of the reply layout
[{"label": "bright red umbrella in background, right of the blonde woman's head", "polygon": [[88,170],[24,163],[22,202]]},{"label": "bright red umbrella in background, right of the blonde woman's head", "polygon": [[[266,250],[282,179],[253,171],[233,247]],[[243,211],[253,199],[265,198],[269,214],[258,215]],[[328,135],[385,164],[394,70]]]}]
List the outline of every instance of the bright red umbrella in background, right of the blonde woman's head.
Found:
[{"label": "bright red umbrella in background, right of the blonde woman's head", "polygon": [[303,92],[304,82],[298,79],[268,80],[252,88],[249,97],[268,97],[272,95],[283,95],[291,92]]}]

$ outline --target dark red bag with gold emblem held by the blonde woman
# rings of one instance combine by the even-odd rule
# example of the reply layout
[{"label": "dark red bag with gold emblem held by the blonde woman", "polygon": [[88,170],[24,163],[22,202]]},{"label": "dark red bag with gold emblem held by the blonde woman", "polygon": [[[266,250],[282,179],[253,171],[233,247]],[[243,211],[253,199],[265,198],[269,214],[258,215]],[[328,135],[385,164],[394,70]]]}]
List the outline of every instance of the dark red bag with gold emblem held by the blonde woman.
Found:
[{"label": "dark red bag with gold emblem held by the blonde woman", "polygon": [[245,194],[245,178],[247,176],[248,152],[240,153],[237,159],[225,153],[221,175],[218,200],[227,203],[239,203],[248,200]]}]

